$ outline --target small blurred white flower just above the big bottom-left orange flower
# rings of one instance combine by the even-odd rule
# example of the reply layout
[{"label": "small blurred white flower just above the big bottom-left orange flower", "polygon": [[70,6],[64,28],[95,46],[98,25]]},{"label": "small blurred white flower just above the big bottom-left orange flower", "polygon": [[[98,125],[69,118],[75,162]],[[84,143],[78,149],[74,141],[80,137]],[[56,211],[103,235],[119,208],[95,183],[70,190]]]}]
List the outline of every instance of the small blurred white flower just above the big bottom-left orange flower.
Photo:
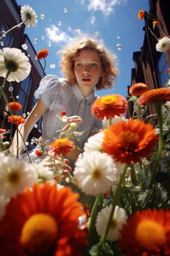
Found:
[{"label": "small blurred white flower just above the big bottom-left orange flower", "polygon": [[35,172],[38,174],[38,179],[53,180],[55,177],[53,171],[51,171],[48,166],[32,163],[31,168],[34,168]]}]

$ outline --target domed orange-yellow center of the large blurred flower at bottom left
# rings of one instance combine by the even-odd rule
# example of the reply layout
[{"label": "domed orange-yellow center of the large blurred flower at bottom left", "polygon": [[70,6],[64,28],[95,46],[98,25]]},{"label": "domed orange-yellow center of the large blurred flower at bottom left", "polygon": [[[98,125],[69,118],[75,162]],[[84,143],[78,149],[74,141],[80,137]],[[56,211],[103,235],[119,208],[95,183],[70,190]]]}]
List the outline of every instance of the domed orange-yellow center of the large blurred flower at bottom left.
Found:
[{"label": "domed orange-yellow center of the large blurred flower at bottom left", "polygon": [[36,213],[22,227],[20,241],[31,254],[47,252],[55,245],[58,236],[56,220],[46,213]]}]

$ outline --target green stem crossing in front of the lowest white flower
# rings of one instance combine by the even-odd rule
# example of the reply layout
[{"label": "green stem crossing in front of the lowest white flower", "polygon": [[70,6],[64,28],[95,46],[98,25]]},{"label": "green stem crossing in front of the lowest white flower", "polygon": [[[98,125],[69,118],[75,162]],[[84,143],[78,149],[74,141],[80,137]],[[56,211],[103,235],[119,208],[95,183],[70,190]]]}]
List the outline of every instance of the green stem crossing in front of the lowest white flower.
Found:
[{"label": "green stem crossing in front of the lowest white flower", "polygon": [[119,193],[120,193],[120,190],[121,190],[121,184],[124,181],[124,177],[125,177],[127,168],[128,168],[128,165],[126,164],[126,166],[124,168],[124,171],[123,171],[123,173],[120,176],[119,184],[118,184],[117,189],[116,189],[115,197],[114,197],[113,204],[112,204],[112,211],[110,213],[110,217],[109,217],[109,220],[108,220],[108,225],[106,227],[106,231],[104,232],[103,236],[100,239],[99,246],[97,248],[97,252],[96,252],[95,256],[99,255],[99,251],[100,251],[100,249],[102,247],[102,244],[104,243],[104,241],[105,241],[105,239],[107,237],[108,231],[110,229],[110,225],[111,225],[112,220],[113,220],[113,214],[114,214],[115,207],[116,207],[116,204],[117,204],[117,200],[119,198]]}]

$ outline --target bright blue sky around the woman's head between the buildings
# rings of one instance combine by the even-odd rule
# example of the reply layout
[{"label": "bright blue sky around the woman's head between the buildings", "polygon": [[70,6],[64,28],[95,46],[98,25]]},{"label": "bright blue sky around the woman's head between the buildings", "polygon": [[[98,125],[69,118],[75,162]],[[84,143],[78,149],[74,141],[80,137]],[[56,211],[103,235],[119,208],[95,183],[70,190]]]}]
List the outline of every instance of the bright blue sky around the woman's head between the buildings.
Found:
[{"label": "bright blue sky around the woman's head between the buildings", "polygon": [[[96,32],[106,47],[118,56],[120,75],[113,90],[97,91],[97,95],[127,95],[130,85],[131,70],[135,67],[132,60],[133,52],[140,51],[144,41],[144,20],[139,20],[139,10],[149,12],[149,0],[16,0],[22,7],[29,4],[37,13],[36,27],[26,27],[35,51],[48,49],[46,58],[46,74],[62,76],[59,69],[60,56],[56,52],[62,45],[78,33],[93,35]],[[64,8],[67,12],[64,12]],[[44,14],[44,19],[40,16]],[[62,22],[59,26],[58,22]],[[80,30],[77,31],[77,27]],[[44,40],[42,40],[44,36]],[[37,43],[34,43],[34,39]],[[51,43],[51,47],[49,47]],[[116,48],[121,44],[121,50]],[[44,60],[41,61],[44,67]],[[55,68],[51,68],[51,64]]]}]

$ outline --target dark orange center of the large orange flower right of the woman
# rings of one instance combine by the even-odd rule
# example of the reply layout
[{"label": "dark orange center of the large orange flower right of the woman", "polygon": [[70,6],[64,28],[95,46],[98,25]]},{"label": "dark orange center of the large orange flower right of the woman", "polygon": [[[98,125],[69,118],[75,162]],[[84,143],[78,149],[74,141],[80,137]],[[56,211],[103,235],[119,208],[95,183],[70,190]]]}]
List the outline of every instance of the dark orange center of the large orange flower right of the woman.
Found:
[{"label": "dark orange center of the large orange flower right of the woman", "polygon": [[140,141],[140,137],[137,132],[125,131],[119,135],[119,140],[125,150],[133,150]]}]

